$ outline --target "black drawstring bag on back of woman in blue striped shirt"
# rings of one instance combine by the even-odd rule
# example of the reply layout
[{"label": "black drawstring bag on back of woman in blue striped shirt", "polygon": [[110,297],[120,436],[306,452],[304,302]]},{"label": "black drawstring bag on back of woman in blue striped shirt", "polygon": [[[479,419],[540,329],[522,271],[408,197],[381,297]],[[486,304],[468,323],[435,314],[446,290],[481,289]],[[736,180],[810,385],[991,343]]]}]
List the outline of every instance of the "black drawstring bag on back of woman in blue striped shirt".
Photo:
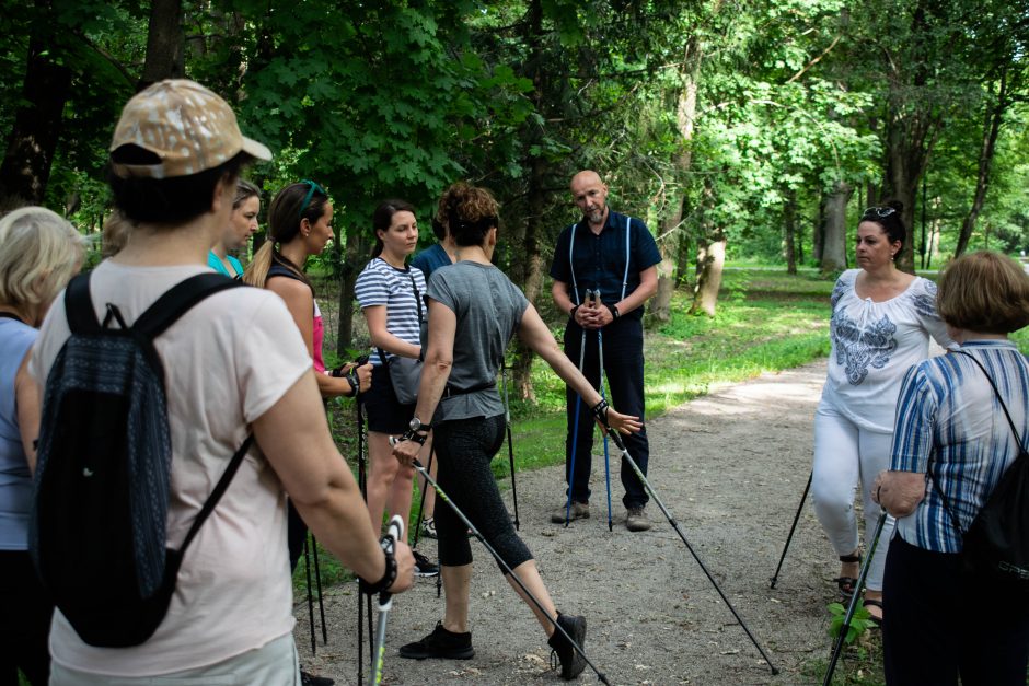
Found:
[{"label": "black drawstring bag on back of woman in blue striped shirt", "polygon": [[[967,352],[955,352],[971,358],[983,370],[1004,409],[1019,451],[962,535],[961,559],[964,571],[983,583],[1002,585],[1015,593],[1029,593],[1029,453],[986,368]],[[958,518],[935,478],[933,485],[960,534]]]}]

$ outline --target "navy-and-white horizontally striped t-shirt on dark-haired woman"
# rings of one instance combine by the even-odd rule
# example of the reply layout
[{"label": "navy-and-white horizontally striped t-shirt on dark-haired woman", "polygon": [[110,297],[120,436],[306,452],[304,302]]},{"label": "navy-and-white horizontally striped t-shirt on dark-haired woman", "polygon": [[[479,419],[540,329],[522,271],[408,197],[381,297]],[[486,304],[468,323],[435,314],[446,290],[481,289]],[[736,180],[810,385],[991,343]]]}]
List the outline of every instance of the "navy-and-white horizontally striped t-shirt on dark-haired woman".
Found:
[{"label": "navy-and-white horizontally striped t-shirt on dark-haired woman", "polygon": [[[425,275],[420,269],[397,269],[382,259],[375,257],[357,277],[354,291],[357,301],[365,307],[385,305],[386,330],[404,342],[420,346],[420,322],[418,321],[418,301],[415,300],[415,290],[411,280],[414,278],[415,287],[420,295],[425,295]],[[421,305],[425,314],[425,305]],[[390,356],[391,353],[386,353]],[[372,364],[382,364],[379,350],[371,349]]]}]

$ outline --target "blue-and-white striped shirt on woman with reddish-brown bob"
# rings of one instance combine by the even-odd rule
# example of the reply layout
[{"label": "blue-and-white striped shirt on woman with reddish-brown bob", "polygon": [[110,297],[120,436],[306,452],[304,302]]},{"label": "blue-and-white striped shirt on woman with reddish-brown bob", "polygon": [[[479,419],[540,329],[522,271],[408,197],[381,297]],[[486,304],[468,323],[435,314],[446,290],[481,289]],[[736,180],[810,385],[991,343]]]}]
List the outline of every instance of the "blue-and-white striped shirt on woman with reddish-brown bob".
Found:
[{"label": "blue-and-white striped shirt on woman with reddish-brown bob", "polygon": [[[1029,437],[1029,362],[1007,340],[970,340],[974,356],[997,385],[1025,442]],[[945,354],[912,367],[897,400],[890,469],[932,474],[947,496],[962,532],[1018,456],[1015,437],[990,381],[963,354]],[[907,543],[937,553],[960,553],[962,532],[927,478],[924,500],[897,521]]]}]

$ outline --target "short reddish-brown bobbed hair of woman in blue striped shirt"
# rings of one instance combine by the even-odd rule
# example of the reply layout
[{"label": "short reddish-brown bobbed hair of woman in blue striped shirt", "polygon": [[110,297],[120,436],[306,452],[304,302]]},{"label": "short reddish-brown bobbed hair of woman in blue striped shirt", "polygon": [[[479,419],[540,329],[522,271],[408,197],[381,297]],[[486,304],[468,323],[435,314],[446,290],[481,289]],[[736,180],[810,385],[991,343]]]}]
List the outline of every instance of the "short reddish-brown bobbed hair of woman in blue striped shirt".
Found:
[{"label": "short reddish-brown bobbed hair of woman in blue striped shirt", "polygon": [[969,332],[1017,332],[1029,324],[1029,275],[993,251],[962,255],[939,277],[936,310],[944,322]]}]

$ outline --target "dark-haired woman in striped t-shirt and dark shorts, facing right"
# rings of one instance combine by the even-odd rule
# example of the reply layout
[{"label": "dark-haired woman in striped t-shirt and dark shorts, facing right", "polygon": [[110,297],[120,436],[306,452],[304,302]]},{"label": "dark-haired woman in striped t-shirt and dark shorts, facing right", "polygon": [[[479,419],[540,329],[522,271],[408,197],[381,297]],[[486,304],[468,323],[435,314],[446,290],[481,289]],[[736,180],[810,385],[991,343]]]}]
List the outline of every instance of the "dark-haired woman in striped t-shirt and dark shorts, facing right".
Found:
[{"label": "dark-haired woman in striped t-shirt and dark shorts, facing right", "polygon": [[[368,512],[379,531],[386,508],[390,518],[398,514],[405,522],[411,513],[415,470],[393,458],[390,437],[408,429],[415,406],[397,399],[389,359],[421,357],[425,275],[407,265],[418,245],[418,222],[411,204],[396,199],[382,202],[372,213],[372,259],[357,277],[354,290],[368,323],[374,365],[371,391],[363,403],[368,415]],[[415,567],[420,577],[439,573],[439,567],[417,551]]]}]

